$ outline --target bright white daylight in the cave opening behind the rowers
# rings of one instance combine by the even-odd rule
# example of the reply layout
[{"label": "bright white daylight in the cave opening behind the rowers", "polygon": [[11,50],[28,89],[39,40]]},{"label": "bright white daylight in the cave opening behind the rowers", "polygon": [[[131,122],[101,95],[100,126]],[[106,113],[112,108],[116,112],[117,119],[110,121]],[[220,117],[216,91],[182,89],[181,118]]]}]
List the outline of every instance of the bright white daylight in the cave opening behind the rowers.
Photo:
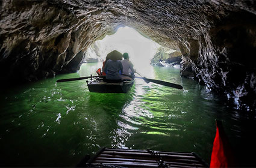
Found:
[{"label": "bright white daylight in the cave opening behind the rowers", "polygon": [[105,60],[107,53],[117,50],[120,53],[127,52],[130,61],[138,72],[146,74],[149,70],[151,59],[157,52],[159,44],[143,37],[139,32],[130,27],[121,27],[113,35],[107,35],[104,39],[95,42],[99,47],[101,58]]}]

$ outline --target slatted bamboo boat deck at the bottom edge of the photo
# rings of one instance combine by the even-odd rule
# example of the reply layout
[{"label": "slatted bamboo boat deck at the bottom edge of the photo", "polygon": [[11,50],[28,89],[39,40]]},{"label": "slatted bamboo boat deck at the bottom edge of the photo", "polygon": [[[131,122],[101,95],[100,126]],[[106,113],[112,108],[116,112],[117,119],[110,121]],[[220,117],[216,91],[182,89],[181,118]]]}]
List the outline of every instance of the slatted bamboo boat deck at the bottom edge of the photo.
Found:
[{"label": "slatted bamboo boat deck at the bottom edge of the photo", "polygon": [[102,148],[86,167],[208,167],[195,153]]}]

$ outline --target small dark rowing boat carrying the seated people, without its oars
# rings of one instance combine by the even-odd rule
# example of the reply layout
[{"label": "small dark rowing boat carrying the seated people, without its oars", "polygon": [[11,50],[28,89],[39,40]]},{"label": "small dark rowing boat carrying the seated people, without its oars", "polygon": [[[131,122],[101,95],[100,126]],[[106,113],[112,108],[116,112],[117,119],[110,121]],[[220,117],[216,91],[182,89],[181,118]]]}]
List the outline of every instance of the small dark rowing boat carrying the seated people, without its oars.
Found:
[{"label": "small dark rowing boat carrying the seated people, without its oars", "polygon": [[104,82],[101,77],[92,78],[86,81],[90,92],[99,93],[126,93],[130,91],[134,80],[125,80],[118,83]]}]

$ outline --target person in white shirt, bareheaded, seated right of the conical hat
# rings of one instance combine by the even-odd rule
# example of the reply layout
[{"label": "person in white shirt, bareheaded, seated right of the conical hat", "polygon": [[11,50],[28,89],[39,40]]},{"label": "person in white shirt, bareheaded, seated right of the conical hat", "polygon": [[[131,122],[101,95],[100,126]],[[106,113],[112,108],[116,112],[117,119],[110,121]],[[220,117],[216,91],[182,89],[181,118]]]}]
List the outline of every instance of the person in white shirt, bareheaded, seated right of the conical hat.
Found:
[{"label": "person in white shirt, bareheaded, seated right of the conical hat", "polygon": [[123,73],[122,73],[122,79],[123,80],[133,80],[133,76],[135,73],[135,70],[133,68],[133,63],[129,61],[130,56],[128,53],[123,53],[123,60],[122,65],[123,65]]}]

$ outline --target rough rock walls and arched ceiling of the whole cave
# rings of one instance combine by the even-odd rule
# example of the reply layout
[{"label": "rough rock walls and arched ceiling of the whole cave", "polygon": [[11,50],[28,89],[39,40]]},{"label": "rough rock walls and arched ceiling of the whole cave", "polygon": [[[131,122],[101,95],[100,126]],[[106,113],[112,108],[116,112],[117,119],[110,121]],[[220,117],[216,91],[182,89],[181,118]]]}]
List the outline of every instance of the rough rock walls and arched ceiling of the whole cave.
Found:
[{"label": "rough rock walls and arched ceiling of the whole cave", "polygon": [[30,81],[77,71],[94,41],[131,26],[178,50],[196,76],[255,110],[256,1],[0,1],[0,71]]}]

